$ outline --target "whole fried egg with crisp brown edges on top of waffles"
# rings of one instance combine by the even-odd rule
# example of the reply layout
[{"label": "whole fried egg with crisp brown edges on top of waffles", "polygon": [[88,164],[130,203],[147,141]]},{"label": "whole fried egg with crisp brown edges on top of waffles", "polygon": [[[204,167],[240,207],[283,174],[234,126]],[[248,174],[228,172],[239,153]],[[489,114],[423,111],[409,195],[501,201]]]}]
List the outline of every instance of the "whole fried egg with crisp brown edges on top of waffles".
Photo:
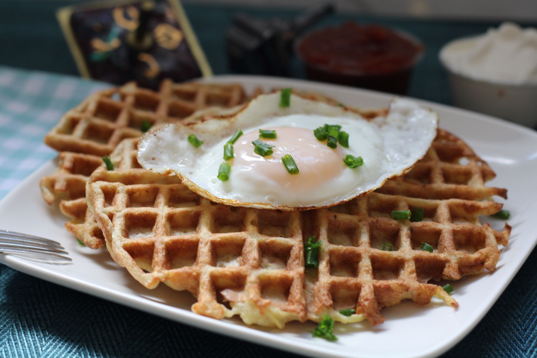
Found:
[{"label": "whole fried egg with crisp brown edges on top of waffles", "polygon": [[[386,115],[362,118],[345,107],[291,95],[280,107],[280,92],[262,94],[240,112],[187,125],[168,125],[146,133],[138,145],[144,169],[177,175],[192,191],[217,203],[264,209],[296,210],[329,207],[382,186],[388,178],[409,171],[436,136],[438,117],[406,99],[395,99]],[[349,145],[330,148],[314,129],[340,126]],[[237,129],[233,159],[224,160],[224,145]],[[260,129],[276,138],[260,138]],[[194,135],[203,144],[188,141]],[[255,152],[253,141],[273,146],[272,154]],[[282,157],[291,155],[298,173],[291,174]],[[347,155],[363,164],[349,167]],[[222,163],[229,179],[217,178]]]}]

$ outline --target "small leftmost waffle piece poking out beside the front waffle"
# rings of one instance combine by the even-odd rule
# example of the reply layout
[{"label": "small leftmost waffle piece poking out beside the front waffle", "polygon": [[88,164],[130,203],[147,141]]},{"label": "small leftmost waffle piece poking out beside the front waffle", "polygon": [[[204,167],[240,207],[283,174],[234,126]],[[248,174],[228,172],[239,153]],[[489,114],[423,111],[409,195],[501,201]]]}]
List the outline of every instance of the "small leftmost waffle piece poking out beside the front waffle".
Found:
[{"label": "small leftmost waffle piece poking out beside the front waffle", "polygon": [[67,231],[92,249],[103,246],[104,237],[91,211],[87,210],[86,181],[100,165],[103,165],[101,157],[60,152],[59,168],[40,181],[43,199],[48,204],[60,200],[60,210],[71,218],[66,223]]}]

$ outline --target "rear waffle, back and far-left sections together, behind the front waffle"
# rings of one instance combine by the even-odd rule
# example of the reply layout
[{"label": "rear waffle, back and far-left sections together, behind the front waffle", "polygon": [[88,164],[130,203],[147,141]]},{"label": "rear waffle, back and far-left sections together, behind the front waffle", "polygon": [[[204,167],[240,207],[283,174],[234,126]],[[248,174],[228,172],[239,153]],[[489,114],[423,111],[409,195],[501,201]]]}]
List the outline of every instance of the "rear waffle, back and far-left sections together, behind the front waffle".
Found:
[{"label": "rear waffle, back and far-left sections together, behind the front waffle", "polygon": [[[92,94],[66,113],[45,137],[50,147],[65,151],[59,155],[59,170],[41,179],[43,199],[49,204],[59,199],[62,213],[71,218],[67,230],[86,246],[98,249],[104,245],[104,237],[91,211],[86,210],[85,183],[91,172],[103,165],[100,156],[110,154],[122,138],[139,137],[143,120],[153,126],[199,121],[216,112],[233,113],[246,99],[238,84],[171,81],[164,81],[159,92],[129,83]],[[196,111],[198,108],[202,109]]]}]

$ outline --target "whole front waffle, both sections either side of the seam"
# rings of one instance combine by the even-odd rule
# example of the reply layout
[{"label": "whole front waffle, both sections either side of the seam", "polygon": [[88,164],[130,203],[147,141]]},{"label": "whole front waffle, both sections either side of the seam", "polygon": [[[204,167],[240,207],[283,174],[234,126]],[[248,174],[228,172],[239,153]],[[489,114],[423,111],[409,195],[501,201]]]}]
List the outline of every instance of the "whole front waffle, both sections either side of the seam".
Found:
[{"label": "whole front waffle, both sections either side of the seam", "polygon": [[[437,144],[447,140],[466,149],[450,144],[445,148],[459,151],[441,154],[444,146]],[[134,160],[136,143],[122,142],[112,160]],[[469,187],[466,192],[482,190],[494,173],[445,131],[439,130],[420,163],[462,166],[455,164],[460,154],[470,167],[481,163],[486,170],[480,171],[481,184],[475,172],[466,185],[458,185]],[[394,181],[415,184],[418,177]],[[426,304],[437,296],[457,306],[440,286],[427,282],[494,270],[497,245],[507,244],[510,227],[498,232],[478,220],[502,204],[456,196],[432,199],[445,194],[427,193],[432,185],[438,189],[442,182],[423,183],[422,194],[414,195],[425,199],[377,191],[328,209],[285,212],[215,204],[175,177],[100,167],[86,195],[112,257],[143,286],[164,282],[188,290],[198,299],[192,310],[201,315],[240,315],[246,324],[281,328],[290,320],[318,321],[324,314],[376,325],[384,320],[380,309],[402,299]],[[392,210],[416,207],[425,210],[422,222],[391,219]],[[303,242],[311,235],[322,242],[318,270],[304,269]],[[420,251],[422,242],[432,245],[433,253]],[[385,243],[393,251],[382,251]],[[338,311],[345,308],[357,313],[343,316]]]}]

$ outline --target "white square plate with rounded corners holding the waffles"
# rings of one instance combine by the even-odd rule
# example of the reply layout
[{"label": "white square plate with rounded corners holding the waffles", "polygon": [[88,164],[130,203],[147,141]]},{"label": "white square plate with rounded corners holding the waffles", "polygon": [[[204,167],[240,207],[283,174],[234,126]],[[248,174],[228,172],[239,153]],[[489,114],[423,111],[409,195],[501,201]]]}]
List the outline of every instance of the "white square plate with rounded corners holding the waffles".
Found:
[{"label": "white square plate with rounded corners holding the waffles", "polygon": [[[386,107],[393,98],[389,94],[284,78],[219,76],[208,81],[238,82],[249,91],[259,85],[265,89],[293,87],[318,91],[347,105],[365,108]],[[164,284],[148,290],[115,265],[106,250],[94,251],[78,245],[63,227],[66,218],[41,199],[39,179],[54,172],[54,161],[43,165],[0,202],[0,228],[57,240],[66,247],[72,263],[50,264],[5,254],[0,254],[0,262],[158,316],[304,355],[323,358],[439,355],[460,341],[487,313],[537,243],[534,225],[537,201],[531,195],[537,174],[537,133],[489,116],[420,102],[439,113],[442,128],[462,138],[487,160],[497,173],[489,185],[509,190],[505,205],[511,211],[509,223],[513,227],[509,245],[502,250],[494,273],[485,272],[452,283],[453,297],[460,304],[456,310],[440,301],[425,306],[404,302],[383,309],[386,322],[378,327],[367,322],[336,324],[339,340],[334,343],[312,338],[308,330],[315,327],[313,323],[291,323],[280,331],[246,326],[239,319],[219,321],[195,315],[190,311],[195,302],[190,293],[173,291]],[[503,227],[501,221],[490,222],[497,230]]]}]

